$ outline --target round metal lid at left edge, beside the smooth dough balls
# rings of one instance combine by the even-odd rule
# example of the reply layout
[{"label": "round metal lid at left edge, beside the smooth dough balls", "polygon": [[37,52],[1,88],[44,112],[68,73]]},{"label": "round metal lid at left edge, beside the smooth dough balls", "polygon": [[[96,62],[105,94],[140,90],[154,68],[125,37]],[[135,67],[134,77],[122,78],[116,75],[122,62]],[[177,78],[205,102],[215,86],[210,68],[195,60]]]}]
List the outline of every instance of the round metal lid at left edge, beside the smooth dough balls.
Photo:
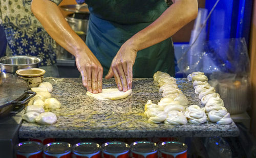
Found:
[{"label": "round metal lid at left edge, beside the smooth dough balls", "polygon": [[22,97],[28,89],[27,82],[9,73],[0,73],[0,108]]}]

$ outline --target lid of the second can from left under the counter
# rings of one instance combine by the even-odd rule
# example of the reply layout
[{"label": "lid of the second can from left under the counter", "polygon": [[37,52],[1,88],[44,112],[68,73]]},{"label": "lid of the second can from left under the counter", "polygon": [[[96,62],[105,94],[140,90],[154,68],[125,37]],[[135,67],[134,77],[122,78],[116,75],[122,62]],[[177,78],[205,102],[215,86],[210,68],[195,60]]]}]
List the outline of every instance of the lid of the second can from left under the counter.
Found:
[{"label": "lid of the second can from left under the counter", "polygon": [[68,153],[72,150],[71,144],[66,142],[53,142],[44,146],[44,152],[46,153]]}]

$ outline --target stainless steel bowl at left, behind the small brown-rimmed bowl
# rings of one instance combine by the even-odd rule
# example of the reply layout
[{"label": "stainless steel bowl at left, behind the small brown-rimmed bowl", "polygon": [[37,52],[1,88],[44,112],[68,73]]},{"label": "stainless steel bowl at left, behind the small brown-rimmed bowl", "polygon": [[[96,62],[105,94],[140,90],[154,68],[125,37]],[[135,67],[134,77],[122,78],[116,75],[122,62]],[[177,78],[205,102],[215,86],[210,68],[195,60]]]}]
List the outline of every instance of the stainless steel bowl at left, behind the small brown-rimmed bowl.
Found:
[{"label": "stainless steel bowl at left, behind the small brown-rimmed bowl", "polygon": [[19,69],[38,68],[42,60],[36,56],[5,56],[0,58],[1,71],[15,74]]}]

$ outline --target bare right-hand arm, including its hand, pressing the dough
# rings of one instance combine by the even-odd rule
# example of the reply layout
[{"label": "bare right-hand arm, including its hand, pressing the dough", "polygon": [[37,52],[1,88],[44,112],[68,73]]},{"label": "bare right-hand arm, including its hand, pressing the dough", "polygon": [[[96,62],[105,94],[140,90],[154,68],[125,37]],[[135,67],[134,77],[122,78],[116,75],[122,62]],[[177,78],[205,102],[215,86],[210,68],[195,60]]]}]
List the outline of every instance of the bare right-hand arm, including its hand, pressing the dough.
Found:
[{"label": "bare right-hand arm, including its hand, pressing the dough", "polygon": [[197,17],[197,0],[176,0],[151,25],[127,40],[112,61],[105,78],[115,77],[120,91],[132,88],[132,70],[137,52],[159,43]]}]

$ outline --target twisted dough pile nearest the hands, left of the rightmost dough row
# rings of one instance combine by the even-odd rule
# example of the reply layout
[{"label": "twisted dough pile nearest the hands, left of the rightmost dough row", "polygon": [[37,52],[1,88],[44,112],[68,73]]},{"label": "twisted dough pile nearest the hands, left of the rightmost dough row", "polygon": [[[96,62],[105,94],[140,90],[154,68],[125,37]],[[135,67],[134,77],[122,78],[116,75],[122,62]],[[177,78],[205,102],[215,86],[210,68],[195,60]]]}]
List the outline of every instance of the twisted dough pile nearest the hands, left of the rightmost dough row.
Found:
[{"label": "twisted dough pile nearest the hands, left of the rightmost dough row", "polygon": [[176,79],[159,71],[154,74],[153,78],[158,82],[159,92],[162,93],[163,98],[158,104],[152,103],[151,100],[147,101],[144,115],[148,121],[174,125],[186,124],[184,112],[188,100],[178,88]]}]

